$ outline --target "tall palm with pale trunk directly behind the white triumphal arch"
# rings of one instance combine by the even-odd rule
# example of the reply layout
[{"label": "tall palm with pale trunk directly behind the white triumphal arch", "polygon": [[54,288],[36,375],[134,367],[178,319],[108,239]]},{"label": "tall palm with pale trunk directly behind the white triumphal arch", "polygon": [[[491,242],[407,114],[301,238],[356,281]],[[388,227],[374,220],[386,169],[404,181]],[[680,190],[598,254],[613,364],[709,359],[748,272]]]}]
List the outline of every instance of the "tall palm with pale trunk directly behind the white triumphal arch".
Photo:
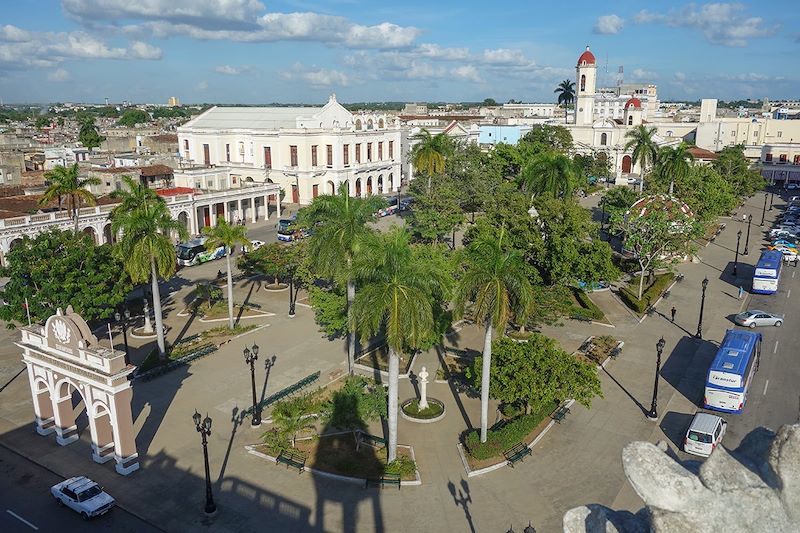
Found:
[{"label": "tall palm with pale trunk directly behind the white triumphal arch", "polygon": [[172,218],[164,199],[152,189],[128,176],[122,179],[128,190],[114,191],[112,195],[121,200],[111,212],[111,231],[115,235],[122,233],[115,250],[134,283],[145,283],[148,279],[151,282],[158,352],[164,357],[166,344],[158,278],[175,273],[177,258],[170,235],[174,232],[186,239],[188,232]]}]

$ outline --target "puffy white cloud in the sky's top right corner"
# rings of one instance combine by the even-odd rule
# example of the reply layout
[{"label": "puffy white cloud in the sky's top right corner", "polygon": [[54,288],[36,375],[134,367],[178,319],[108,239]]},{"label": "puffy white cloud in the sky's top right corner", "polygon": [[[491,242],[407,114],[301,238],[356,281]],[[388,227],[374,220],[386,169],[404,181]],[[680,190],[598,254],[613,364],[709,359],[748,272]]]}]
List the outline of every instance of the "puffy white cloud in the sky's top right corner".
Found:
[{"label": "puffy white cloud in the sky's top right corner", "polygon": [[767,25],[761,17],[749,16],[746,9],[739,3],[688,4],[669,13],[643,9],[634,15],[633,21],[699,30],[709,42],[723,46],[747,46],[750,39],[768,37],[777,31],[777,26]]}]

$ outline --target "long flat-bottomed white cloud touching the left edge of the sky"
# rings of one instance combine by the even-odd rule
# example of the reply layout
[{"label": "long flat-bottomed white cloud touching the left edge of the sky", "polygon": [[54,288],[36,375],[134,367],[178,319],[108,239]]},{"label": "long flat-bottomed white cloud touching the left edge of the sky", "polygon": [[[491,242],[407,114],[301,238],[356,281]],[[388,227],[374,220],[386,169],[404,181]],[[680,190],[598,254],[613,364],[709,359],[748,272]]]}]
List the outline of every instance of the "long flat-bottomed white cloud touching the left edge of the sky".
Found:
[{"label": "long flat-bottomed white cloud touching the left edge of the sky", "polygon": [[160,59],[161,50],[140,41],[113,47],[84,31],[33,32],[0,28],[0,67],[52,67],[70,59]]}]

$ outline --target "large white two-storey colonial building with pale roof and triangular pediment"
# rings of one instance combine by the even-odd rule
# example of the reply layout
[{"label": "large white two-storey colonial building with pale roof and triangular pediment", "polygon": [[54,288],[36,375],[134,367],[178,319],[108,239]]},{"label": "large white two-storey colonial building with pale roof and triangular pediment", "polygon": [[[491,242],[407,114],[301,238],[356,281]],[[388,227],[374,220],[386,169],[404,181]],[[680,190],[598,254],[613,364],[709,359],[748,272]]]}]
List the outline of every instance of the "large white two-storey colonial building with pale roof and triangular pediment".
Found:
[{"label": "large white two-storey colonial building with pale roof and triangular pediment", "polygon": [[178,128],[178,147],[197,183],[221,174],[231,186],[275,183],[293,203],[309,204],[344,182],[359,197],[400,186],[399,124],[353,114],[335,95],[322,107],[213,107]]}]

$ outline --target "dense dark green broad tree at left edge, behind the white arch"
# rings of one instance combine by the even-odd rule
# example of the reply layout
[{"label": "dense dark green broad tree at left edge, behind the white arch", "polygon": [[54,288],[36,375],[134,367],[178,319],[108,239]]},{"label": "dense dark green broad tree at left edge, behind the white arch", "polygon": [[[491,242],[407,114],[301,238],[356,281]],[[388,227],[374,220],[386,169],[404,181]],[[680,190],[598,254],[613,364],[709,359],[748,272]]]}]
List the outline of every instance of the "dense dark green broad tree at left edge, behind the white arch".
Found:
[{"label": "dense dark green broad tree at left edge, behind the white arch", "polygon": [[73,309],[89,322],[110,318],[125,301],[131,280],[110,245],[96,246],[90,235],[52,230],[24,236],[6,255],[0,276],[9,278],[0,290],[0,318],[39,322],[57,308]]}]

